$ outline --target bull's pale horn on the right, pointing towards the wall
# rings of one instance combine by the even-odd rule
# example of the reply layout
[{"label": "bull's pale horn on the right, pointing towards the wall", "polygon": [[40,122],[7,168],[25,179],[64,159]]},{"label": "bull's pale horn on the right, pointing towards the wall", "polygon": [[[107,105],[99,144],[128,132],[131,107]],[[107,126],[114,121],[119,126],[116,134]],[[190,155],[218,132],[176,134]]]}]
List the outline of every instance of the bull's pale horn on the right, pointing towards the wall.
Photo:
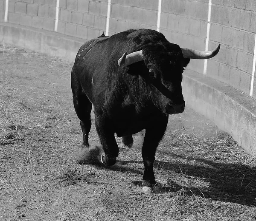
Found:
[{"label": "bull's pale horn on the right, pointing towards the wall", "polygon": [[212,51],[198,51],[198,50],[192,50],[189,48],[181,48],[182,54],[184,58],[191,58],[191,59],[208,59],[214,57],[216,54],[218,54],[218,51],[220,50],[221,44],[218,45],[217,48],[215,48]]}]

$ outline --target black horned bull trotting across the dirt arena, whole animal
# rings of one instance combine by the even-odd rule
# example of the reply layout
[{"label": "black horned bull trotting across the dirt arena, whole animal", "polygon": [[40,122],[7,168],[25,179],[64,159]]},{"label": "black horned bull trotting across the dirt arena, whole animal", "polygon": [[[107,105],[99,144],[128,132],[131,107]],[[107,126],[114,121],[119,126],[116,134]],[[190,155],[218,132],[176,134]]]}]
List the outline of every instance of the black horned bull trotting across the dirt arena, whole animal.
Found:
[{"label": "black horned bull trotting across the dirt arena, whole animal", "polygon": [[[71,87],[83,133],[82,148],[89,147],[92,104],[95,125],[107,166],[116,163],[119,148],[132,134],[145,129],[142,147],[143,186],[153,187],[153,163],[169,114],[182,113],[182,73],[190,58],[208,59],[218,53],[180,48],[154,30],[128,30],[111,37],[103,34],[81,46],[72,69]],[[128,55],[127,55],[127,54]]]}]

